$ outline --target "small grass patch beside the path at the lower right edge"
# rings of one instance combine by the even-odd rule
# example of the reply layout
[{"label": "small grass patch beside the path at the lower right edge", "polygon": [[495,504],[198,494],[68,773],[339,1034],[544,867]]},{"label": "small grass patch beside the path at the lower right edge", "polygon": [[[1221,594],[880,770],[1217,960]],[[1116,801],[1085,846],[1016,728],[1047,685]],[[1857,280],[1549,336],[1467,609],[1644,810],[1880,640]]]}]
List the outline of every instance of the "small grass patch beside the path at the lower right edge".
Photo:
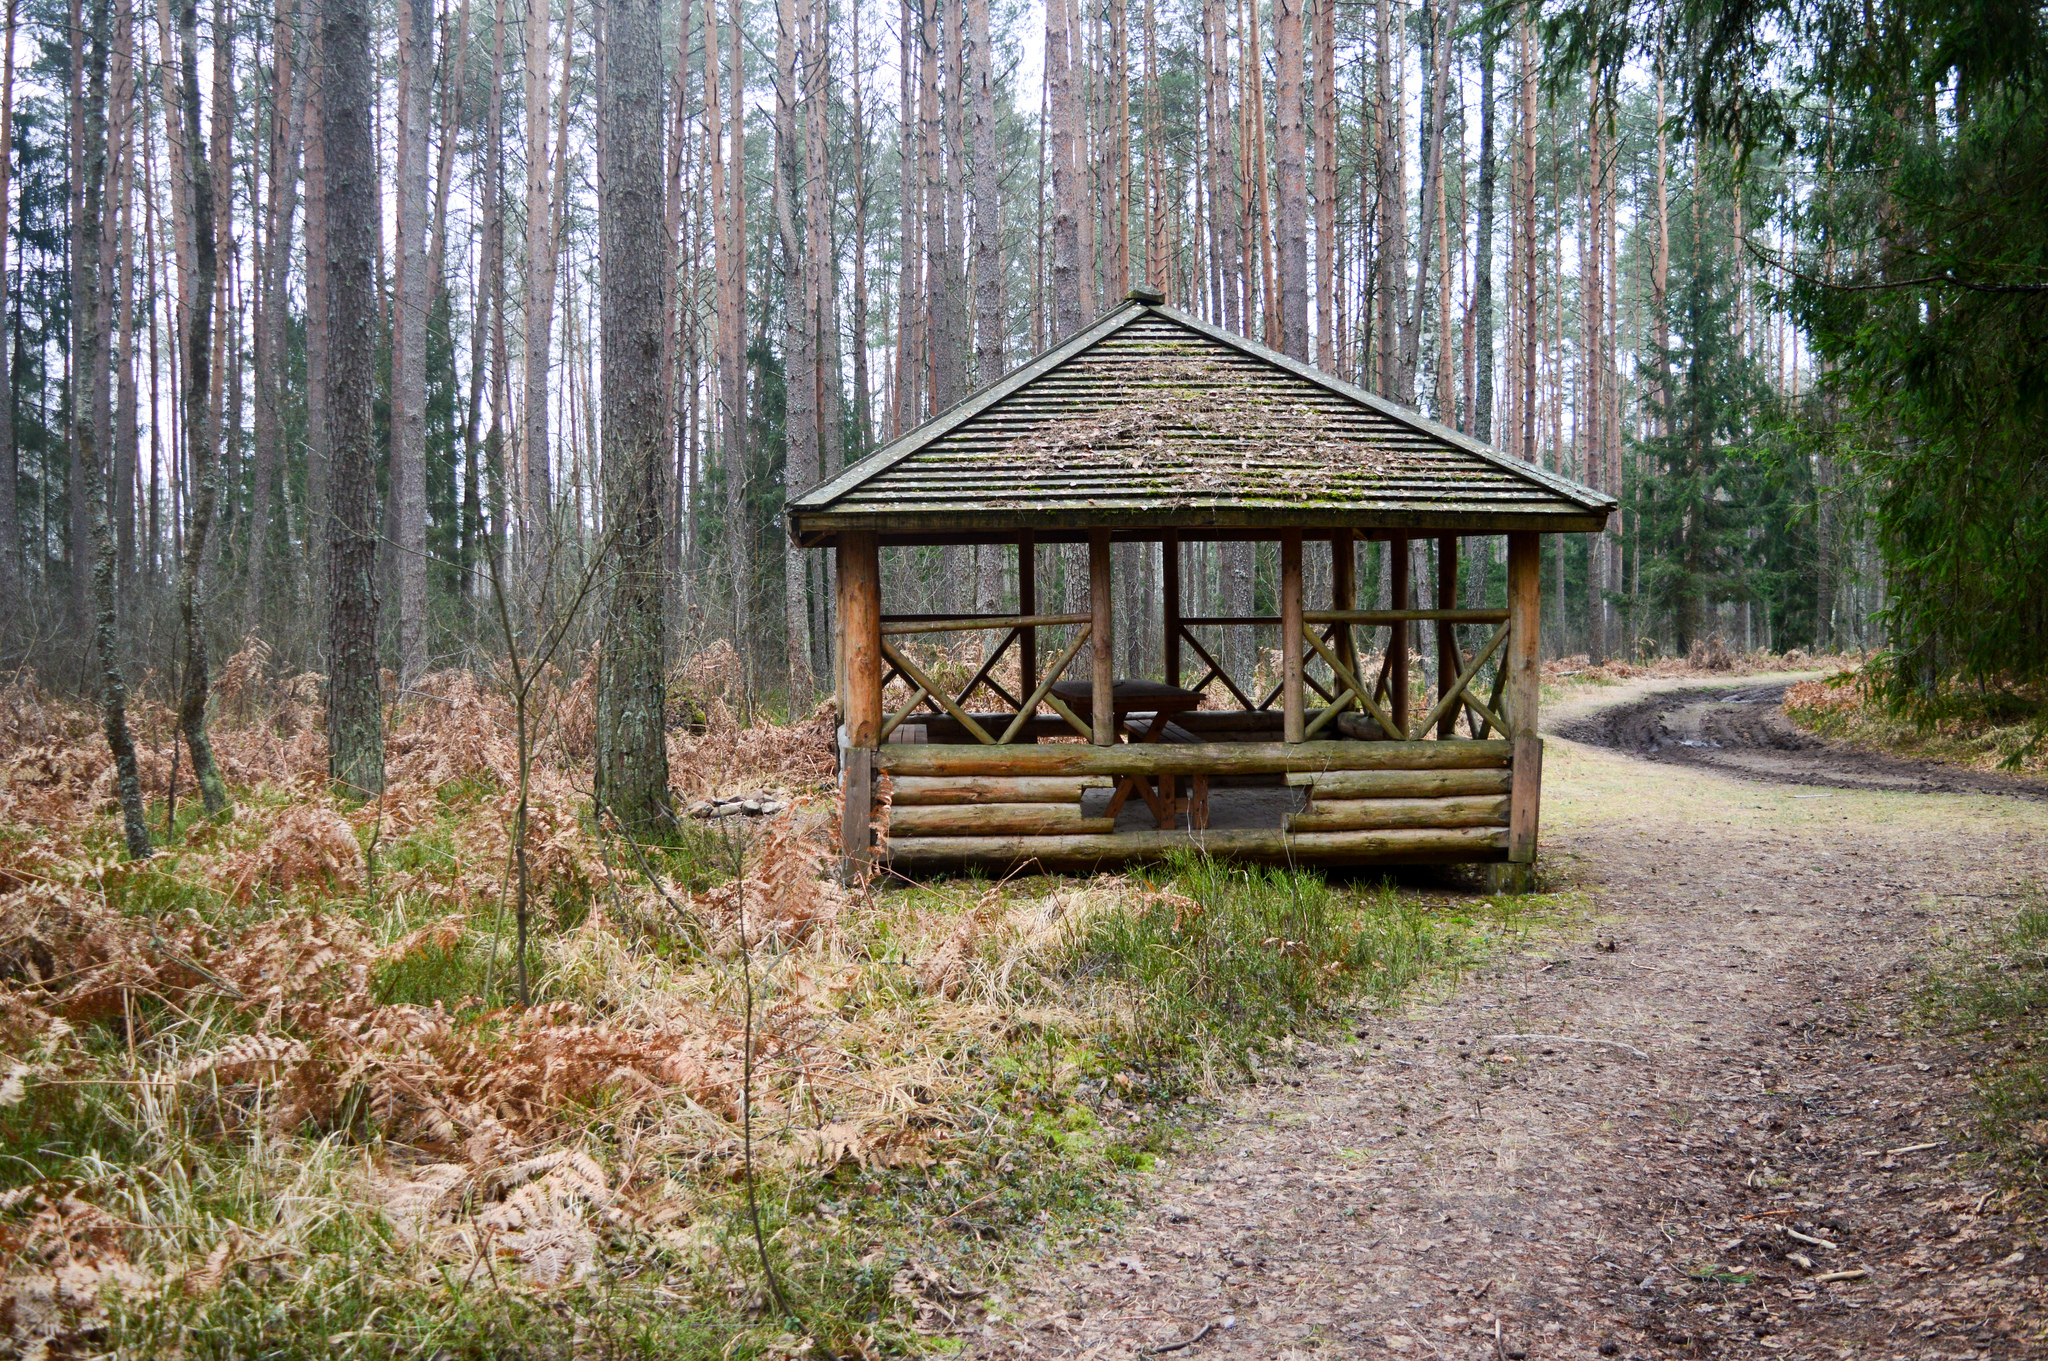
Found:
[{"label": "small grass patch beside the path at the lower right edge", "polygon": [[1985,1046],[1978,1126],[1999,1173],[2048,1195],[2048,896],[2036,894],[1921,993],[1935,1027]]}]

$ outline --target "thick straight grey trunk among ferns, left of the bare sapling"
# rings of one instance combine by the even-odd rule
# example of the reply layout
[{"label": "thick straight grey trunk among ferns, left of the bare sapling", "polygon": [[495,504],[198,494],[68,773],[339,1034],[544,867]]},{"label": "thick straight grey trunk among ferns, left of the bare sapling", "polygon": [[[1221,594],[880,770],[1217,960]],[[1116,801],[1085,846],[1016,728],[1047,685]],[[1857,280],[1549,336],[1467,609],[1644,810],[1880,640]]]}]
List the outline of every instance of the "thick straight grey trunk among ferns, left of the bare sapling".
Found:
[{"label": "thick straight grey trunk among ferns, left of the bare sapling", "polygon": [[[186,8],[190,10],[186,0]],[[377,158],[369,0],[322,0],[322,162],[328,221],[328,774],[383,792],[377,669]],[[197,100],[190,104],[197,123]],[[195,139],[197,145],[197,139]]]}]

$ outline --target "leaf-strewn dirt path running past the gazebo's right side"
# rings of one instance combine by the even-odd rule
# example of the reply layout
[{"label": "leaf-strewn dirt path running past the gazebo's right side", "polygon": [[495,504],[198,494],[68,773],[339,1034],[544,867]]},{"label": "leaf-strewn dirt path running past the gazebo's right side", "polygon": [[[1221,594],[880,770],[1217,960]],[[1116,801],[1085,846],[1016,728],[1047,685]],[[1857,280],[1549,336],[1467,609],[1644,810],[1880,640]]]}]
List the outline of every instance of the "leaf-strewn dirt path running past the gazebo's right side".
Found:
[{"label": "leaf-strewn dirt path running past the gazebo's right side", "polygon": [[985,1300],[969,1353],[2048,1355],[2048,1255],[1911,1015],[1944,941],[2048,866],[2048,802],[1823,788],[1812,747],[1636,755],[1712,735],[1708,698],[1559,706],[1544,851],[1589,911],[1298,1046],[1120,1242]]}]

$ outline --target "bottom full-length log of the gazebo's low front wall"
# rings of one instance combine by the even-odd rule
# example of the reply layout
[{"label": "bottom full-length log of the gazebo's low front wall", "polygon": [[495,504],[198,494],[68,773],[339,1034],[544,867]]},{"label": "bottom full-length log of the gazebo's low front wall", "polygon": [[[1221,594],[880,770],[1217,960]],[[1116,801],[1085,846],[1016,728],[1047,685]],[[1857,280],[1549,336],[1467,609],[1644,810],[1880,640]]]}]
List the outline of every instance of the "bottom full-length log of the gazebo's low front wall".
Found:
[{"label": "bottom full-length log of the gazebo's low front wall", "polygon": [[893,837],[889,864],[899,870],[930,866],[1028,866],[1085,870],[1165,860],[1174,851],[1219,860],[1272,864],[1458,864],[1507,858],[1503,827],[1442,827],[1389,831],[1118,831],[1065,837]]}]

